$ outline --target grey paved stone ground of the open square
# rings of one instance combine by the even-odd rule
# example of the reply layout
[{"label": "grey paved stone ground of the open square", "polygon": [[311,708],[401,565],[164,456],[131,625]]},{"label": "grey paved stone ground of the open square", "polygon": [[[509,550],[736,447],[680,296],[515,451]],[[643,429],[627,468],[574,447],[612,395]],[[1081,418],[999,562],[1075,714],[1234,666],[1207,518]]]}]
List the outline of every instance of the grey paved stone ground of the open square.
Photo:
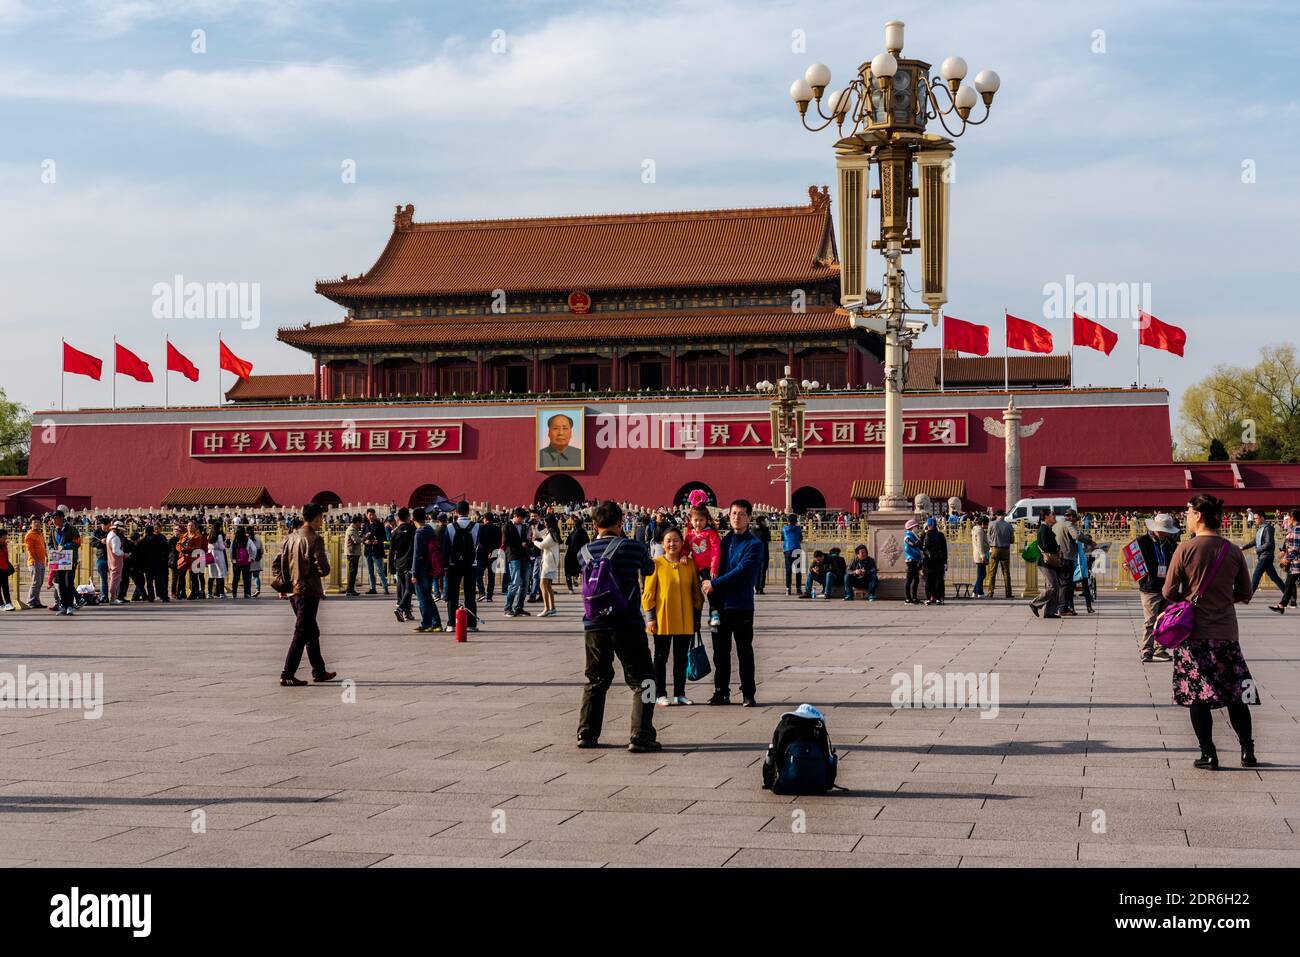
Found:
[{"label": "grey paved stone ground of the open square", "polygon": [[[1300,615],[1242,610],[1262,763],[1239,767],[1219,715],[1225,770],[1205,772],[1170,666],[1138,661],[1132,596],[1041,622],[1001,601],[768,594],[760,707],[658,709],[658,754],[623,746],[620,677],[606,746],[573,748],[581,601],[559,605],[508,620],[498,597],[458,645],[399,625],[382,597],[330,598],[326,661],[355,703],[278,687],[291,615],[274,598],[3,615],[0,671],[101,671],[105,706],[0,711],[0,862],[1300,865]],[[996,674],[997,716],[894,707],[892,677],[915,666]],[[827,713],[848,792],[760,788],[779,715],[805,701]]]}]

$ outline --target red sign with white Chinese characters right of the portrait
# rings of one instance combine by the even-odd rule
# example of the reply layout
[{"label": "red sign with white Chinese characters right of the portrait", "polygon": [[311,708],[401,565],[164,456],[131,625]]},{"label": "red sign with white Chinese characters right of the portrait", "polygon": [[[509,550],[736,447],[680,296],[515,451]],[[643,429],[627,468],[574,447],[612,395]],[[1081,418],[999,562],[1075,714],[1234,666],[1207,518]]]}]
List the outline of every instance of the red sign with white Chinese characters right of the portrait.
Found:
[{"label": "red sign with white Chinese characters right of the portrait", "polygon": [[[693,420],[667,416],[663,420],[664,449],[686,451],[734,451],[772,447],[772,423],[762,416],[702,416]],[[871,449],[884,447],[885,417],[883,415],[827,415],[809,416],[803,424],[803,447],[814,449]],[[952,415],[905,415],[902,417],[902,443],[905,446],[965,446],[970,443],[970,420],[965,412]]]}]

